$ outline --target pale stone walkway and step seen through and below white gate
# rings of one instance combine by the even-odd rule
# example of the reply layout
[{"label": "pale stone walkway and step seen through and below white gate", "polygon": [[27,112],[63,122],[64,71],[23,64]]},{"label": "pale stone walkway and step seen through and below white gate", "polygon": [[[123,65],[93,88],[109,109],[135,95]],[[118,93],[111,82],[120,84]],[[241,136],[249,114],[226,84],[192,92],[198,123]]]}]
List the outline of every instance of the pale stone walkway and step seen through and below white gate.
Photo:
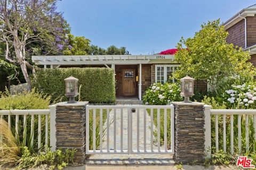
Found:
[{"label": "pale stone walkway and step seen through and below white gate", "polygon": [[[137,150],[137,113],[132,113],[133,114],[133,118],[132,118],[132,148],[133,150]],[[127,116],[128,116],[128,112],[127,109],[123,110],[123,149],[127,150]],[[114,110],[112,110],[110,112],[110,118],[111,124],[109,126],[109,149],[110,150],[114,150]],[[143,133],[144,133],[144,113],[143,110],[140,109],[139,110],[139,148],[141,150],[143,150],[144,148],[144,137],[143,137]],[[146,114],[146,149],[150,150],[151,146],[150,146],[150,141],[151,141],[151,136],[150,136],[150,124],[151,124],[151,120],[150,120],[150,116],[148,114]],[[153,126],[153,130],[156,129],[155,125]],[[107,122],[104,125],[104,128],[107,128]],[[155,141],[155,137],[153,136],[153,140]],[[154,143],[153,145],[153,149],[157,150],[157,145],[156,143]],[[107,132],[105,135],[105,139],[103,141],[103,145],[102,145],[102,149],[107,149]],[[120,150],[121,149],[121,111],[119,109],[117,109],[116,111],[116,149]],[[163,147],[161,147],[161,149],[164,149]],[[129,161],[131,161],[131,159],[166,159],[172,158],[172,155],[170,154],[165,154],[165,155],[160,155],[160,154],[147,154],[147,155],[143,155],[143,154],[131,154],[131,155],[120,155],[120,154],[108,154],[108,155],[91,155],[91,157],[89,158],[89,160],[93,161],[93,160],[100,160],[100,159],[105,159],[107,160],[107,162],[109,162],[110,160],[113,159],[129,159]],[[122,160],[121,160],[122,161]],[[169,162],[170,163],[170,162]]]}]

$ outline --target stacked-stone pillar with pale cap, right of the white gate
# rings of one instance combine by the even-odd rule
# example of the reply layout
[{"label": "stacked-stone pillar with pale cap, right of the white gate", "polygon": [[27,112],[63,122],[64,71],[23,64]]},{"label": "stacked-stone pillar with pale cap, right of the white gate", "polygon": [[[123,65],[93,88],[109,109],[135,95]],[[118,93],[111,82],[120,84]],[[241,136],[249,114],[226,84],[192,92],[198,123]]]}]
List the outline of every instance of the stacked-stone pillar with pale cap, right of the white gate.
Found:
[{"label": "stacked-stone pillar with pale cap, right of the white gate", "polygon": [[204,104],[173,102],[174,161],[202,164],[205,158]]}]

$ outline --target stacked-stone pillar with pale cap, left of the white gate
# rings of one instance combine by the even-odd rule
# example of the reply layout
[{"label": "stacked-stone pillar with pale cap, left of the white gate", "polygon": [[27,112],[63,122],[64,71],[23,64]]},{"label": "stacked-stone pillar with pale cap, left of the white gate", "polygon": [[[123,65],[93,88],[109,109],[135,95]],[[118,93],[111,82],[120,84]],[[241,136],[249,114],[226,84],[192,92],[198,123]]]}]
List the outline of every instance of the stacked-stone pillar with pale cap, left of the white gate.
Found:
[{"label": "stacked-stone pillar with pale cap, left of the white gate", "polygon": [[56,104],[56,149],[76,149],[74,161],[83,163],[85,158],[84,119],[87,101]]}]

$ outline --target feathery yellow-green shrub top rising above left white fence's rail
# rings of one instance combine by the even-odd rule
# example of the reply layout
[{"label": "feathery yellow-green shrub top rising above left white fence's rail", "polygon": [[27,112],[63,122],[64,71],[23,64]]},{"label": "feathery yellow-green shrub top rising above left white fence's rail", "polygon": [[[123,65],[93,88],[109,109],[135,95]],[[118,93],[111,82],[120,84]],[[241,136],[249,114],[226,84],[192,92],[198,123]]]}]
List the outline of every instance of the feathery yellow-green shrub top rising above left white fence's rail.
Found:
[{"label": "feathery yellow-green shrub top rising above left white fence's rail", "polygon": [[50,105],[50,96],[35,92],[33,89],[26,94],[11,96],[9,91],[0,93],[0,110],[11,109],[47,109]]}]

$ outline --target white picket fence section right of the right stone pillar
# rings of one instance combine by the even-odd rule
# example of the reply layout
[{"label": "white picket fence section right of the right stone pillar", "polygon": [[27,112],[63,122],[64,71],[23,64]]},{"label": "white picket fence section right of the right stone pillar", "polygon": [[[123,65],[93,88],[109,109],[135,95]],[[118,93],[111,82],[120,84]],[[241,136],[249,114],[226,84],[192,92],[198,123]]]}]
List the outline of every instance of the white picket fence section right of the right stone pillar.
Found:
[{"label": "white picket fence section right of the right stone pillar", "polygon": [[[250,132],[250,123],[253,124],[254,134],[253,134],[253,140],[256,141],[256,109],[210,109],[211,106],[205,105],[205,116],[208,116],[208,119],[206,118],[206,125],[211,124],[211,117],[214,116],[214,124],[211,124],[214,126],[215,131],[215,150],[219,150],[219,135],[222,135],[223,139],[223,145],[222,148],[224,152],[227,152],[227,147],[230,147],[230,154],[234,154],[234,139],[237,138],[238,140],[238,152],[242,152],[242,127],[245,129],[245,149],[246,151],[249,151],[252,148],[249,148],[250,146],[250,139],[249,139],[249,132]],[[237,115],[237,126],[234,127],[234,116]],[[252,122],[249,122],[251,116]],[[222,127],[219,127],[219,118],[222,118]],[[228,119],[227,119],[228,118]],[[241,119],[245,119],[245,123],[241,121]],[[230,123],[230,139],[227,139],[227,122]],[[219,128],[222,128],[222,134],[219,134]],[[234,129],[237,128],[237,135],[234,135]],[[210,131],[209,131],[210,130]],[[208,142],[207,146],[209,145],[209,135],[211,133],[211,126],[206,128],[206,143]],[[227,141],[230,141],[230,146],[227,146]],[[251,140],[252,142],[252,140]],[[209,149],[209,148],[208,148]],[[254,149],[254,148],[253,148]]]}]

